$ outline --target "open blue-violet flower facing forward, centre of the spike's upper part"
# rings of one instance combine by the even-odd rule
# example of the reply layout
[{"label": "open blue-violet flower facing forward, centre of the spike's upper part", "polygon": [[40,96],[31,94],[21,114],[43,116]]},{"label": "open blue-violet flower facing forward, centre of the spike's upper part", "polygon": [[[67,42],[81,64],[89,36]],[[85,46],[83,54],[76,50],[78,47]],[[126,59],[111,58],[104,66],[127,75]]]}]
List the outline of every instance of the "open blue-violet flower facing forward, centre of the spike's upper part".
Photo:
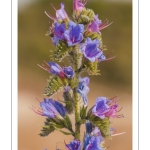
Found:
[{"label": "open blue-violet flower facing forward, centre of the spike's upper part", "polygon": [[83,24],[76,24],[73,21],[70,21],[68,30],[66,30],[64,33],[68,46],[73,46],[80,43],[83,40],[83,31]]}]

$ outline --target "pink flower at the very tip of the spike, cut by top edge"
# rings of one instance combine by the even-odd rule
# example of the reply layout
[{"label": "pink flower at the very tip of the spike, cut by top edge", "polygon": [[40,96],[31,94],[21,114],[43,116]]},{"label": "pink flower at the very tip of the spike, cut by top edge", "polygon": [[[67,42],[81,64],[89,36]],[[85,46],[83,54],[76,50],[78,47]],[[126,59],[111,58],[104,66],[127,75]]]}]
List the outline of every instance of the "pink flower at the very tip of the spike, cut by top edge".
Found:
[{"label": "pink flower at the very tip of the spike, cut by top edge", "polygon": [[75,11],[81,12],[86,5],[87,0],[85,0],[84,4],[81,2],[81,0],[74,0],[73,2],[73,9]]}]

